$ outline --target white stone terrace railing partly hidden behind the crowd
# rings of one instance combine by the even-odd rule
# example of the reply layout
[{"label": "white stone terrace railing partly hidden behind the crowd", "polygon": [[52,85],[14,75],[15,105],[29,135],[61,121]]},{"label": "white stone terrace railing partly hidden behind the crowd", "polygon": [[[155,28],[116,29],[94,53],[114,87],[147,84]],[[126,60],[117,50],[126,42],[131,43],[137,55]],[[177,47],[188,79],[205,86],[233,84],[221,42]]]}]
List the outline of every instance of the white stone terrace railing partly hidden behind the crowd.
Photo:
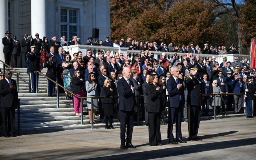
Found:
[{"label": "white stone terrace railing partly hidden behind the crowd", "polygon": [[[70,55],[72,56],[73,59],[73,53],[77,53],[78,51],[82,51],[83,56],[86,55],[86,51],[88,49],[91,49],[93,55],[95,57],[97,57],[97,53],[98,51],[104,51],[104,53],[107,50],[110,50],[111,55],[113,56],[113,54],[115,53],[115,51],[118,51],[119,54],[120,53],[128,53],[130,58],[132,59],[132,57],[134,55],[139,55],[140,56],[140,51],[138,50],[128,50],[128,48],[126,47],[104,47],[104,46],[95,46],[95,45],[70,45],[70,46],[65,46],[63,47],[65,51],[69,51]],[[174,52],[159,52],[159,51],[150,51],[150,53],[154,53],[155,55],[155,59],[159,59],[162,55],[162,53],[166,54],[166,58],[170,59],[172,58],[172,56],[174,55]],[[184,55],[185,53],[177,53],[178,55],[178,59],[181,60],[182,59],[182,55]],[[237,54],[227,54],[227,55],[209,55],[209,54],[194,54],[194,58],[196,57],[196,55],[200,56],[200,59],[203,60],[203,62],[205,63],[205,60],[207,60],[208,58],[215,56],[216,61],[221,63],[223,62],[223,58],[226,57],[227,58],[227,62],[234,62],[234,57],[238,57],[238,60],[243,62],[244,58],[248,58],[248,62],[250,61],[250,56],[249,55],[237,55]]]}]

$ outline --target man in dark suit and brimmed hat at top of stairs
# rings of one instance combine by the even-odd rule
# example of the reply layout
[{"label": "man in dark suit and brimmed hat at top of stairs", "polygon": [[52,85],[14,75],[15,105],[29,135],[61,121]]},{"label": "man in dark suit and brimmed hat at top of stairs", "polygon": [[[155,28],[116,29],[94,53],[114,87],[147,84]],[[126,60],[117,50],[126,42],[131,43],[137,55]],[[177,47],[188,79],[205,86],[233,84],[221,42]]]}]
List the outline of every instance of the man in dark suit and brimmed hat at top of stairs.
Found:
[{"label": "man in dark suit and brimmed hat at top of stairs", "polygon": [[10,38],[11,33],[9,31],[5,32],[5,37],[2,39],[4,45],[4,62],[8,65],[11,63],[11,53],[13,51],[13,39]]}]

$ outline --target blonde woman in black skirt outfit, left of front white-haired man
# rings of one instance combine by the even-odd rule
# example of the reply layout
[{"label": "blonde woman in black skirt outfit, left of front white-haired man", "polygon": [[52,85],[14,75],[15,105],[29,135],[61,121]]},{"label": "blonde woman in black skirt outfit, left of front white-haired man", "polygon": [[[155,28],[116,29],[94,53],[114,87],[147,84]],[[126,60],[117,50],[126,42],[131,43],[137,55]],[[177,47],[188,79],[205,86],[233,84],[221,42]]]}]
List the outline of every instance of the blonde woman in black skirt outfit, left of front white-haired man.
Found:
[{"label": "blonde woman in black skirt outfit, left of front white-haired man", "polygon": [[[108,78],[104,81],[103,85],[103,94],[104,94],[104,116],[105,116],[105,128],[106,129],[115,129],[112,125],[113,123],[113,89],[111,88],[111,80]],[[108,126],[108,116],[109,116],[109,126]]]}]

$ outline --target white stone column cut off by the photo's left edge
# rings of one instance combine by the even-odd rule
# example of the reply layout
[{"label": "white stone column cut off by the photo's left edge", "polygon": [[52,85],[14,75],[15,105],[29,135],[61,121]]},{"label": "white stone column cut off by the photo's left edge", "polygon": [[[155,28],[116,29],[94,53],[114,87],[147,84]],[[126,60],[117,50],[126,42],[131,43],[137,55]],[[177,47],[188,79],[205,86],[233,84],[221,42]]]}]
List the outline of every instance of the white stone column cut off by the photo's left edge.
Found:
[{"label": "white stone column cut off by the photo's left edge", "polygon": [[[8,0],[0,1],[0,35],[1,40],[5,36],[5,32],[8,30]],[[11,31],[10,31],[11,32]],[[12,37],[12,36],[10,36]],[[0,44],[0,60],[4,61],[4,45]],[[2,66],[2,63],[0,63]]]}]

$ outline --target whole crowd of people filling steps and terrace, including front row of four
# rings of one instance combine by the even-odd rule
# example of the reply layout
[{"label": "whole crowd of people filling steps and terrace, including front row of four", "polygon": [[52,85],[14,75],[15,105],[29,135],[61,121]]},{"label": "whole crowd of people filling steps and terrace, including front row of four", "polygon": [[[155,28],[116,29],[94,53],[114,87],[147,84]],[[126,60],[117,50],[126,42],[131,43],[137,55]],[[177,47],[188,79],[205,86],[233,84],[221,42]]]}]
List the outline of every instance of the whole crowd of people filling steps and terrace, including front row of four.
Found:
[{"label": "whole crowd of people filling steps and terrace, including front row of four", "polygon": [[[35,93],[35,83],[38,82],[38,75],[36,76],[34,71],[40,71],[45,67],[48,70],[46,75],[64,86],[65,90],[60,92],[66,93],[66,100],[73,100],[76,116],[82,115],[80,106],[83,100],[72,97],[67,90],[71,90],[77,96],[104,96],[103,99],[87,98],[89,123],[97,123],[94,121],[95,113],[99,110],[101,120],[106,124],[105,128],[115,129],[112,125],[113,110],[119,110],[121,149],[136,148],[132,144],[133,121],[136,118],[145,121],[145,125],[149,127],[150,145],[161,145],[160,124],[163,122],[166,108],[168,108],[167,137],[171,144],[186,143],[181,134],[182,118],[188,122],[189,140],[202,140],[197,136],[200,116],[209,116],[209,107],[214,103],[218,115],[226,115],[225,111],[232,110],[233,102],[237,114],[244,112],[240,110],[245,106],[248,118],[251,118],[255,111],[253,110],[255,106],[252,106],[255,94],[255,70],[249,67],[247,58],[241,63],[237,57],[234,58],[234,62],[227,62],[227,58],[224,57],[223,62],[219,64],[212,56],[204,64],[197,53],[208,53],[212,48],[208,50],[208,44],[205,44],[202,51],[197,48],[198,46],[194,47],[190,44],[186,51],[185,45],[180,48],[170,47],[171,43],[168,45],[171,50],[164,42],[158,47],[154,47],[155,42],[153,45],[147,42],[146,46],[140,43],[142,46],[136,47],[135,40],[131,38],[121,46],[123,40],[115,40],[112,44],[107,36],[106,41],[102,42],[104,46],[119,45],[141,51],[131,59],[127,53],[115,52],[111,56],[110,50],[99,51],[97,56],[93,57],[91,50],[88,49],[85,56],[79,51],[73,53],[71,59],[70,53],[64,51],[61,45],[79,44],[77,36],[74,36],[70,43],[65,41],[64,36],[60,43],[56,41],[56,36],[53,36],[48,44],[47,38],[44,37],[44,42],[40,42],[39,34],[36,34],[36,38],[32,39],[32,45],[29,45],[29,38],[24,34],[24,41],[27,49],[24,65],[29,73],[29,92]],[[46,44],[45,50],[42,43]],[[88,43],[93,45],[92,38],[88,38]],[[154,58],[154,53],[149,51],[154,51],[154,48],[155,51],[160,51],[161,46],[163,47],[161,51],[165,49],[166,52],[177,51],[189,54],[184,54],[179,60],[177,53],[174,53],[170,59],[162,53],[161,58],[157,60]],[[232,47],[229,51],[222,47],[223,50],[218,54],[226,54],[232,50]],[[233,49],[235,50],[235,47]],[[217,50],[215,49],[214,52]],[[6,60],[5,62],[8,62]],[[54,96],[54,93],[55,83],[48,80],[48,96]],[[214,98],[202,96],[203,93],[244,93],[244,96],[221,95]],[[144,97],[138,97],[141,95]],[[136,117],[137,111],[141,112],[141,117]],[[176,123],[176,139],[172,133],[174,123]]]}]

